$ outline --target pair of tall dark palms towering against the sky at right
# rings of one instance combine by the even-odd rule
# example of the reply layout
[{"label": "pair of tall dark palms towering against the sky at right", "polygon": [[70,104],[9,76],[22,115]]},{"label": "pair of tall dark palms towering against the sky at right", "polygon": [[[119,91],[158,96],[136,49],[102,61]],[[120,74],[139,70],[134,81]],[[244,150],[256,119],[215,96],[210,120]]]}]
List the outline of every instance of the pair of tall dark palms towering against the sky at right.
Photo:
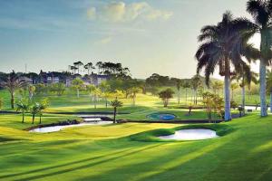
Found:
[{"label": "pair of tall dark palms towering against the sky at right", "polygon": [[[234,18],[230,12],[223,14],[219,24],[206,25],[199,35],[197,72],[204,69],[206,83],[209,76],[219,67],[219,74],[225,77],[225,120],[231,119],[230,81],[232,76],[241,77],[242,86],[251,79],[249,63],[259,60],[260,115],[267,116],[266,89],[267,65],[271,62],[272,45],[272,0],[249,0],[247,11],[254,22],[247,18]],[[260,48],[254,48],[248,40],[260,33]]]}]

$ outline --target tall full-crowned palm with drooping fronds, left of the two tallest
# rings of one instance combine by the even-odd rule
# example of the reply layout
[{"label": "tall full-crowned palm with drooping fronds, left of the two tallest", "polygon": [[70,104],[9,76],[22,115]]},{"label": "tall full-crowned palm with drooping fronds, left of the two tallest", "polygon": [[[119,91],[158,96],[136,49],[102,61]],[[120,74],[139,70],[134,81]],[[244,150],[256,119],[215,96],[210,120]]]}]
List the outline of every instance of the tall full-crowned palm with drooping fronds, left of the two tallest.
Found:
[{"label": "tall full-crowned palm with drooping fronds, left of the two tallest", "polygon": [[241,58],[241,50],[245,52],[253,50],[253,47],[244,41],[244,38],[248,38],[248,33],[244,33],[247,29],[247,21],[241,18],[233,19],[227,12],[223,14],[219,24],[204,26],[199,35],[199,42],[202,44],[195,55],[198,60],[197,72],[205,68],[206,84],[209,85],[210,74],[213,74],[215,68],[219,66],[219,74],[224,76],[225,83],[225,120],[231,119],[229,99],[230,76],[233,74],[231,67],[237,72],[242,71],[246,62]]}]

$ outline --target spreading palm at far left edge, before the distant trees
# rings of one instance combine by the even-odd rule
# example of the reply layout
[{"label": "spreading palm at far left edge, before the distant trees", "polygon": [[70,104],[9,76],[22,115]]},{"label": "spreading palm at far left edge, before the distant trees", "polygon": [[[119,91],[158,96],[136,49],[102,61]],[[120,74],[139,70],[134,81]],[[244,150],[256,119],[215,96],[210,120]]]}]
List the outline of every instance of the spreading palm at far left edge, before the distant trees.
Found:
[{"label": "spreading palm at far left edge, before the distant trees", "polygon": [[15,109],[15,90],[23,88],[26,85],[26,81],[20,78],[15,71],[12,71],[5,81],[2,81],[1,85],[5,87],[11,95],[11,109]]}]

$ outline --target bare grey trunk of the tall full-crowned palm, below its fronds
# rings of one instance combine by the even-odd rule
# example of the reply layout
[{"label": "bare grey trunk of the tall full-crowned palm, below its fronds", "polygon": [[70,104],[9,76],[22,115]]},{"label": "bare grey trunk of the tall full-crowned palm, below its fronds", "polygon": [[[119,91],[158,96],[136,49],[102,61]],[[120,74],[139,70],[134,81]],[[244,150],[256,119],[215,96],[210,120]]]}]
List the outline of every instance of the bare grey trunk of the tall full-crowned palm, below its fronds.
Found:
[{"label": "bare grey trunk of the tall full-crowned palm, below its fronds", "polygon": [[226,121],[231,120],[229,91],[230,91],[230,76],[229,76],[229,73],[226,73],[225,74],[225,96],[224,96]]}]

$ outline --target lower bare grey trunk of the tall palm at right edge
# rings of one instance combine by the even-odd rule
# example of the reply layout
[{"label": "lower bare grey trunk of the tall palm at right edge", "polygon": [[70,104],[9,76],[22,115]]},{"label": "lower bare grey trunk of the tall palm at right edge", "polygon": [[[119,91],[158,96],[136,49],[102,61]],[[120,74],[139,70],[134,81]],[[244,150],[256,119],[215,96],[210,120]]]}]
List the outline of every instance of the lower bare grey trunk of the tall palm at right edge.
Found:
[{"label": "lower bare grey trunk of the tall palm at right edge", "polygon": [[260,116],[266,117],[267,116],[267,98],[266,98],[266,74],[267,74],[267,67],[263,59],[260,60],[259,63],[259,97],[260,97]]}]

